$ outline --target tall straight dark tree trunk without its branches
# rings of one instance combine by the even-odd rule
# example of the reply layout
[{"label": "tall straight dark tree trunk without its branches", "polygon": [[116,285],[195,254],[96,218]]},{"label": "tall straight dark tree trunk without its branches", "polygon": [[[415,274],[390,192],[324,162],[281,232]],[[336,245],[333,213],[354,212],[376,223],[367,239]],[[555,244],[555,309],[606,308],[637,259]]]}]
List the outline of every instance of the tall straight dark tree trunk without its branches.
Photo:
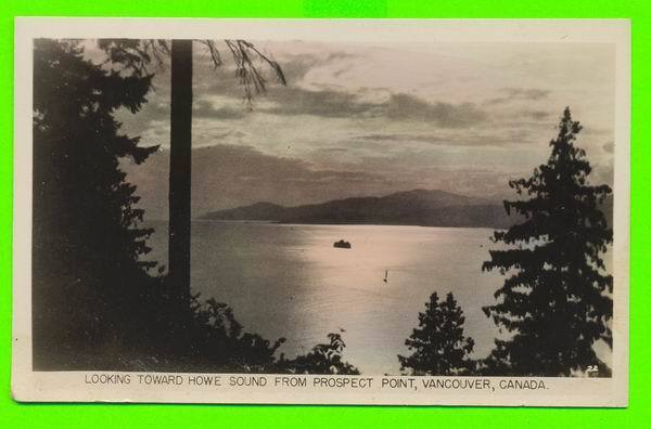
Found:
[{"label": "tall straight dark tree trunk without its branches", "polygon": [[169,280],[190,300],[190,185],[192,166],[192,40],[171,42],[169,154]]}]

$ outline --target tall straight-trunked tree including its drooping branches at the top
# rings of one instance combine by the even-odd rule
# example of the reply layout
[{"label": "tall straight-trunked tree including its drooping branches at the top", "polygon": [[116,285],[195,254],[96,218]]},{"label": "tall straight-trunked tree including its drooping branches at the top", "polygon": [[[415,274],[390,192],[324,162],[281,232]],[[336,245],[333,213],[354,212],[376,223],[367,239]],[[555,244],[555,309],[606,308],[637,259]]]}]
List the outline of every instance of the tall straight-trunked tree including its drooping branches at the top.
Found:
[{"label": "tall straight-trunked tree including its drooping branches at the top", "polygon": [[[215,67],[222,65],[222,55],[214,40],[104,39],[99,47],[110,60],[139,76],[146,76],[151,65],[162,66],[170,57],[170,154],[169,154],[169,280],[182,306],[190,306],[190,234],[192,191],[192,58],[193,43],[209,52]],[[280,65],[246,40],[224,40],[235,65],[235,75],[252,106],[255,94],[267,88],[260,67],[269,66],[279,82],[285,84]],[[187,321],[181,321],[186,323]]]}]

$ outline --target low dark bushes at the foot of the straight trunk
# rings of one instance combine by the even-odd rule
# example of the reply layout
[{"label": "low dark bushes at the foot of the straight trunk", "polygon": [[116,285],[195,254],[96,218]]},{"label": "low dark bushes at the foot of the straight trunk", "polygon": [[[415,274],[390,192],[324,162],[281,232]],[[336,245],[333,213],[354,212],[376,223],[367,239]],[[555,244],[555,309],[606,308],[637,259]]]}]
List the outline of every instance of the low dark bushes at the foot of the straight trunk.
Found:
[{"label": "low dark bushes at the foot of the straight trunk", "polygon": [[[176,297],[171,292],[167,296]],[[190,309],[179,310],[176,298],[164,298],[164,301],[157,307],[158,316],[148,320],[149,330],[142,333],[140,347],[131,349],[131,353],[119,350],[111,362],[112,369],[359,374],[343,360],[345,343],[340,334],[329,334],[328,343],[315,346],[305,355],[286,359],[282,353],[277,355],[284,338],[269,341],[245,332],[232,309],[224,302],[213,298],[202,301],[195,295]],[[97,365],[98,361],[92,363]]]}]

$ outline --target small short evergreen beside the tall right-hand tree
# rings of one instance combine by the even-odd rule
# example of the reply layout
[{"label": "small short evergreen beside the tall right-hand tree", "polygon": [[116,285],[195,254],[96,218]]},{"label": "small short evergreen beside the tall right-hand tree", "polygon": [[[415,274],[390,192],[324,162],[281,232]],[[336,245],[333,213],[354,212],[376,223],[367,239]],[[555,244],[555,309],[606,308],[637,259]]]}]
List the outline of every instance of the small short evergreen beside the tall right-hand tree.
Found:
[{"label": "small short evergreen beside the tall right-hand tree", "polygon": [[449,292],[438,302],[436,292],[419,313],[419,327],[405,344],[411,355],[398,355],[400,369],[413,375],[464,375],[474,367],[469,358],[474,347],[472,338],[463,336],[463,311]]}]

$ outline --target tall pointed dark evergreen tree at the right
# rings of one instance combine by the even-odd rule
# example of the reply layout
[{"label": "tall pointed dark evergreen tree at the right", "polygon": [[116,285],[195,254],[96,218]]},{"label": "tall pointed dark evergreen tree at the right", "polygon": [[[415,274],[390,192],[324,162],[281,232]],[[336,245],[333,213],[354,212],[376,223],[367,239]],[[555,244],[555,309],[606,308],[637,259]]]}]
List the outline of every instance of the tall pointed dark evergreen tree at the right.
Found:
[{"label": "tall pointed dark evergreen tree at the right", "polygon": [[507,248],[490,250],[483,270],[508,275],[484,312],[513,336],[496,340],[488,373],[569,376],[588,365],[608,373],[592,344],[612,344],[613,278],[602,253],[613,232],[599,207],[611,188],[589,184],[590,164],[574,145],[580,129],[565,108],[547,162],[510,182],[522,199],[505,202],[506,210],[524,221],[495,232]]}]

